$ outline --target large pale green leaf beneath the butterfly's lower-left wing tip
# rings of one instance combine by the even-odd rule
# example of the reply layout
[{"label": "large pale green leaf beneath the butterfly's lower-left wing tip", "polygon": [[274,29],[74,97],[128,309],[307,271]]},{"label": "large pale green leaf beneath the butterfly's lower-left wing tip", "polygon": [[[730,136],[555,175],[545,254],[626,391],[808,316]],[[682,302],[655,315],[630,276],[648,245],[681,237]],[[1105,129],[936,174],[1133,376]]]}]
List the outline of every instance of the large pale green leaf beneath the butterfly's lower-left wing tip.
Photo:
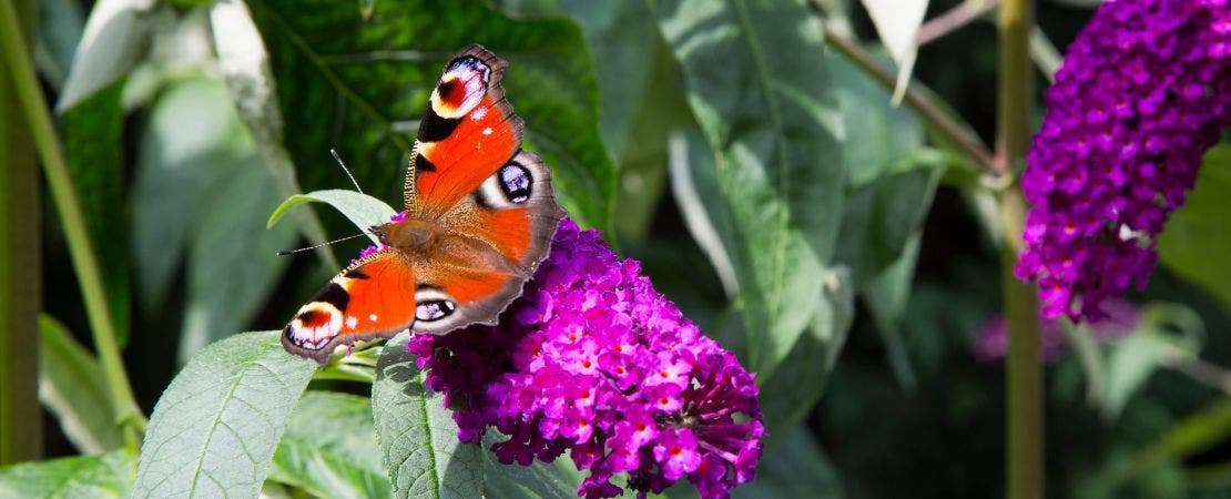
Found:
[{"label": "large pale green leaf beneath the butterfly's lower-left wing tip", "polygon": [[162,392],[133,497],[254,497],[316,363],[287,354],[281,331],[209,345]]}]

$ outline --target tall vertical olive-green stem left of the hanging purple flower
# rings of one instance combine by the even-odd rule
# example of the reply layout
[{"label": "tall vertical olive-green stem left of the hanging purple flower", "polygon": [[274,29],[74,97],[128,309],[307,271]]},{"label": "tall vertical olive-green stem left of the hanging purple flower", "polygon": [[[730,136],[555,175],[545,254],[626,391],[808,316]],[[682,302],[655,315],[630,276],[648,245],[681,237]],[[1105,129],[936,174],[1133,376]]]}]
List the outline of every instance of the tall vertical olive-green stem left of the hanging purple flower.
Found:
[{"label": "tall vertical olive-green stem left of the hanging purple flower", "polygon": [[[1029,33],[1034,5],[1030,0],[1001,4],[1000,92],[997,96],[996,150],[1001,171],[1013,171],[1023,161],[1030,140],[1032,97]],[[1007,495],[1009,499],[1043,498],[1043,367],[1039,361],[1039,307],[1033,286],[1013,276],[1022,248],[1019,234],[1025,218],[1025,200],[1018,186],[1001,193],[1001,285],[1008,322],[1008,442]]]}]

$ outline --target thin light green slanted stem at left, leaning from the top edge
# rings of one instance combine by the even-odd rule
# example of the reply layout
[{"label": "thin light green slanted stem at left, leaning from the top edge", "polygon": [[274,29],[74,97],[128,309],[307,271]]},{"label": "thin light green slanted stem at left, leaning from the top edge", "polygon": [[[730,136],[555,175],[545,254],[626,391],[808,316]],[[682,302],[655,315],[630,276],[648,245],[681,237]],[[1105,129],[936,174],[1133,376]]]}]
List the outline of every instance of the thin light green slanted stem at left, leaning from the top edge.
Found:
[{"label": "thin light green slanted stem at left, leaning from the top edge", "polygon": [[135,451],[140,447],[140,432],[144,430],[145,416],[138,409],[128,375],[124,372],[124,365],[119,357],[114,322],[112,322],[111,312],[107,308],[98,261],[90,246],[89,233],[85,229],[81,203],[73,190],[73,180],[64,161],[64,153],[60,149],[55,127],[52,124],[47,101],[38,87],[33,64],[28,57],[30,52],[21,37],[21,26],[17,23],[16,10],[11,0],[0,2],[0,49],[4,52],[7,73],[11,75],[17,100],[21,101],[25,111],[26,123],[31,127],[34,148],[42,160],[52,200],[57,212],[59,212],[60,224],[64,227],[69,256],[81,286],[81,296],[94,334],[94,345],[98,350],[98,361],[102,363],[106,377],[111,405],[118,419],[117,423],[123,429],[126,444]]}]

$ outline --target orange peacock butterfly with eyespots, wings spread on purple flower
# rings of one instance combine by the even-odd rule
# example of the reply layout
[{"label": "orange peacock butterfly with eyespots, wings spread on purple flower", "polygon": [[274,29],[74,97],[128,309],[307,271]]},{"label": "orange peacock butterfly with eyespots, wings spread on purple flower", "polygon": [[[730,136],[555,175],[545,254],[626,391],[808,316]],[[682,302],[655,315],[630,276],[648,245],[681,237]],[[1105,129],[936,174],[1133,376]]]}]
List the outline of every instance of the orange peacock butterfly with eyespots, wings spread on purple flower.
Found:
[{"label": "orange peacock butterfly with eyespots, wings spread on purple flower", "polygon": [[495,324],[521,296],[564,209],[548,166],[521,147],[522,120],[500,85],[507,65],[478,44],[449,58],[419,124],[405,218],[369,228],[379,249],[295,312],[287,351],[324,365],[359,340]]}]

